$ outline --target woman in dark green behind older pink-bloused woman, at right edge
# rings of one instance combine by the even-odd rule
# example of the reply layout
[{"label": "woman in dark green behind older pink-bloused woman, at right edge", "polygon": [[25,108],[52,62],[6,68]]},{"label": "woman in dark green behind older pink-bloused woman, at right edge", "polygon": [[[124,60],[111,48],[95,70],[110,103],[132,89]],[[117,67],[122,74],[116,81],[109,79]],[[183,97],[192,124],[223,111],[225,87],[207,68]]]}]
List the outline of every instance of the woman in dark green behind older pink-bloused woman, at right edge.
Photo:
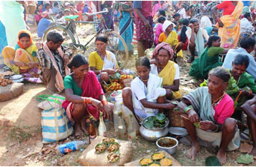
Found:
[{"label": "woman in dark green behind older pink-bloused woman, at right edge", "polygon": [[231,96],[234,101],[237,101],[237,106],[235,106],[236,112],[234,112],[232,115],[232,117],[235,119],[241,119],[242,109],[240,106],[243,105],[243,103],[248,99],[252,99],[253,94],[256,94],[255,79],[249,73],[246,73],[246,68],[248,66],[249,57],[243,54],[238,54],[234,57],[232,62],[232,69],[228,69],[228,71],[231,73],[231,76],[236,81],[238,88],[240,88],[240,94],[239,92],[234,92],[232,89],[227,90],[228,95]]}]

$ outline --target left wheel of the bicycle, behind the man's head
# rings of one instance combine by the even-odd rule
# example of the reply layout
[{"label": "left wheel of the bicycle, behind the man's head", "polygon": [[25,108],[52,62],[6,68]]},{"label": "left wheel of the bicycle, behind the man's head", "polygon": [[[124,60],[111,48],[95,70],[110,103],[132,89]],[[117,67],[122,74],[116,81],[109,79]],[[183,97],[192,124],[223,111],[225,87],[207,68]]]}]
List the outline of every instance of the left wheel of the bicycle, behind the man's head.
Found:
[{"label": "left wheel of the bicycle, behind the man's head", "polygon": [[59,31],[64,38],[62,45],[65,45],[71,48],[72,53],[75,52],[76,48],[73,45],[75,44],[75,37],[73,36],[70,30],[66,30],[65,27],[63,27],[62,25],[52,25],[51,27],[49,27],[49,29],[47,29],[46,32],[43,34],[43,39],[42,39],[43,42],[47,40],[47,35],[51,30]]}]

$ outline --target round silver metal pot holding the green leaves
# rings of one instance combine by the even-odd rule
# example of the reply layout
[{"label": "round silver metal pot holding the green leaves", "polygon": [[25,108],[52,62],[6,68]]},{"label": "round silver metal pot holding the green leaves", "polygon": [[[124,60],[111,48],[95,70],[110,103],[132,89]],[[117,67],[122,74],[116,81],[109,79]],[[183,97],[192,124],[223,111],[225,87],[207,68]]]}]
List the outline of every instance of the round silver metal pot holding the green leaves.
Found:
[{"label": "round silver metal pot holding the green leaves", "polygon": [[[153,117],[153,116],[151,116]],[[162,128],[148,128],[144,125],[144,122],[146,119],[149,117],[146,117],[143,119],[143,122],[141,123],[142,125],[140,126],[140,134],[141,136],[149,141],[156,141],[160,137],[165,137],[168,134],[168,128],[167,126],[169,125],[169,119],[166,119],[166,125]]]}]

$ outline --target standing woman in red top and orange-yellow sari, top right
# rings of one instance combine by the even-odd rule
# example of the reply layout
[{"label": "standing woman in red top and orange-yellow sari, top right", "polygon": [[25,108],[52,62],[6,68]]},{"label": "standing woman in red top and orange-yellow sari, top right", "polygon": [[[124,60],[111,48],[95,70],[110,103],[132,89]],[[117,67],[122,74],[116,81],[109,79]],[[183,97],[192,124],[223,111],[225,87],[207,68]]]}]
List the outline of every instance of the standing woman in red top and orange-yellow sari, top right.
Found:
[{"label": "standing woman in red top and orange-yellow sari, top right", "polygon": [[[219,19],[216,10],[222,9],[223,16]],[[215,16],[216,27],[219,27],[218,34],[222,39],[222,48],[235,48],[240,34],[240,16],[243,12],[242,1],[222,1],[213,7],[213,16]]]}]

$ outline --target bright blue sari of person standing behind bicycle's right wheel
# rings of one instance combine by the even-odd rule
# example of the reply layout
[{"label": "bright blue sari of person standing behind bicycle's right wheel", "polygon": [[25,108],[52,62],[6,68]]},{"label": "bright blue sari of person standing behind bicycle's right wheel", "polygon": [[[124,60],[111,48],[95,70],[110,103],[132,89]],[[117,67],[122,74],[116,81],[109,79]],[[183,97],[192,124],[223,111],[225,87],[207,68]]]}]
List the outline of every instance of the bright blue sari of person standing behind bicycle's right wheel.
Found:
[{"label": "bright blue sari of person standing behind bicycle's right wheel", "polygon": [[[133,26],[133,20],[129,12],[122,12],[122,18],[120,19],[120,22],[119,22],[119,33],[122,36],[122,38],[125,40],[128,51],[133,50],[131,41],[132,41],[132,36],[134,34],[134,26]],[[125,51],[125,48],[122,45],[121,41],[119,41],[118,48],[121,51]]]}]

